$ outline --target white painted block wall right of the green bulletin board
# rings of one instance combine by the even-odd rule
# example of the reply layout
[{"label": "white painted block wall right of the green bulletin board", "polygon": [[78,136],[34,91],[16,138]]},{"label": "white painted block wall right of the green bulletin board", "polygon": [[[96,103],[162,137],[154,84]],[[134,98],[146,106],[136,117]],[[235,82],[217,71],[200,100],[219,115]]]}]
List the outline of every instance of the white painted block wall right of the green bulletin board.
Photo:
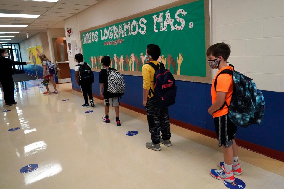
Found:
[{"label": "white painted block wall right of the green bulletin board", "polygon": [[212,0],[212,43],[221,41],[258,89],[284,92],[284,0]]}]

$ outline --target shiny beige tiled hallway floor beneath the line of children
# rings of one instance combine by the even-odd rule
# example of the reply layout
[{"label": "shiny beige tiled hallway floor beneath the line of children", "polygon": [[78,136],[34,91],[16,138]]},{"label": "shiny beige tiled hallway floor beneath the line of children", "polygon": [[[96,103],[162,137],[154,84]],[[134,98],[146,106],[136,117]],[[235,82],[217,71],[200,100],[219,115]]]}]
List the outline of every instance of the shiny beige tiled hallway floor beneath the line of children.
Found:
[{"label": "shiny beige tiled hallway floor beneath the line of children", "polygon": [[[59,94],[50,95],[42,94],[45,88],[38,88],[36,80],[17,85],[18,105],[0,103],[1,111],[11,110],[0,113],[1,189],[226,188],[209,174],[223,159],[215,139],[171,125],[173,145],[156,152],[145,147],[150,141],[145,115],[121,107],[122,126],[117,127],[114,121],[101,121],[102,101],[82,108],[82,95],[70,83],[59,84]],[[113,109],[109,115],[115,118]],[[8,132],[14,127],[21,129]],[[131,130],[138,135],[125,134]],[[283,188],[284,162],[242,148],[239,152],[243,174],[237,178],[246,188]],[[39,167],[20,173],[29,164]]]}]

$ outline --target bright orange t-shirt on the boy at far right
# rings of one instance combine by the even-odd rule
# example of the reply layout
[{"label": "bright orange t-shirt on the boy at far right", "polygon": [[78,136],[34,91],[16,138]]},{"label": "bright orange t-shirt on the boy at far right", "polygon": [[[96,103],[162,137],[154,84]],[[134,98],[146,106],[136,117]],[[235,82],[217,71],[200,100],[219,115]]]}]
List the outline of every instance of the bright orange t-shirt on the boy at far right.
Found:
[{"label": "bright orange t-shirt on the boy at far right", "polygon": [[[217,77],[217,75],[225,70],[225,69],[230,69],[233,71],[233,67],[231,66],[226,66],[222,69],[220,69],[217,74],[214,76],[213,81],[212,81],[212,85],[211,85],[211,97],[212,97],[212,104],[216,101],[217,99],[217,92],[215,91],[215,78]],[[234,82],[233,82],[233,77],[230,74],[220,74],[218,76],[217,79],[217,86],[216,86],[216,90],[219,92],[227,92],[226,94],[226,102],[228,105],[230,105],[231,102],[231,98],[232,98],[232,93],[233,93],[233,89],[234,89]],[[216,117],[221,117],[223,115],[226,115],[227,113],[229,113],[229,109],[228,107],[225,105],[224,108],[222,110],[219,110],[215,113],[213,113],[213,118]]]}]

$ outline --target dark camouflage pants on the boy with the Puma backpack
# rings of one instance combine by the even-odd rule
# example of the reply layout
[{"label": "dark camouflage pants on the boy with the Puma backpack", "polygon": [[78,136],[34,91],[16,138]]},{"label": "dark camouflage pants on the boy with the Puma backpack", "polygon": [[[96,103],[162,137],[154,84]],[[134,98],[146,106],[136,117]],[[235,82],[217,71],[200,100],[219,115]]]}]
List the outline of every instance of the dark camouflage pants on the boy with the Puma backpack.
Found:
[{"label": "dark camouflage pants on the boy with the Puma backpack", "polygon": [[160,132],[164,140],[169,140],[171,138],[171,132],[168,108],[159,109],[156,105],[155,98],[152,97],[147,100],[146,112],[152,142],[154,144],[160,143]]}]

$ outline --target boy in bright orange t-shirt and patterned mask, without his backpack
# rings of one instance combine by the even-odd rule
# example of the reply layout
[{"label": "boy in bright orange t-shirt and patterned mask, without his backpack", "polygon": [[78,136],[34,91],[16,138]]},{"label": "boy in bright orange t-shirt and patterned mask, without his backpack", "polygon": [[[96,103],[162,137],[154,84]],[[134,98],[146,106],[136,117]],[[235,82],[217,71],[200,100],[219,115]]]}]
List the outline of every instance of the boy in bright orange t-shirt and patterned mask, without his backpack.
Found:
[{"label": "boy in bright orange t-shirt and patterned mask, without his backpack", "polygon": [[[211,86],[212,106],[208,109],[210,115],[214,118],[215,130],[219,140],[219,147],[224,146],[224,162],[220,162],[220,169],[212,169],[211,175],[219,180],[225,180],[228,183],[235,181],[235,175],[241,175],[242,170],[238,163],[238,147],[234,140],[237,126],[229,119],[228,113],[232,94],[233,94],[233,77],[230,74],[222,73],[233,67],[228,66],[227,59],[231,53],[230,45],[217,43],[210,46],[207,50],[208,64],[212,69],[219,71],[213,78]],[[217,85],[215,89],[215,79]]]}]

